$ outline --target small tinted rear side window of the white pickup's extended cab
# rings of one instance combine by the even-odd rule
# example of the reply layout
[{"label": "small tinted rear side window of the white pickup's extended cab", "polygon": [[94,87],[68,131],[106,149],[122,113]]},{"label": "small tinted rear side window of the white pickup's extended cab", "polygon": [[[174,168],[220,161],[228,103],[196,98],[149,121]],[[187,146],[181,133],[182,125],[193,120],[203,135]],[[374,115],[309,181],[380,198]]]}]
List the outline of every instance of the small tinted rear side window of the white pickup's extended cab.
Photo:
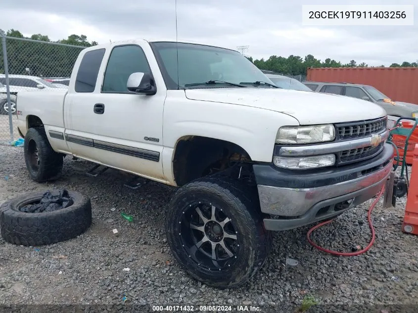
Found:
[{"label": "small tinted rear side window of the white pickup's extended cab", "polygon": [[93,92],[105,49],[96,49],[84,54],[78,68],[75,92]]}]

